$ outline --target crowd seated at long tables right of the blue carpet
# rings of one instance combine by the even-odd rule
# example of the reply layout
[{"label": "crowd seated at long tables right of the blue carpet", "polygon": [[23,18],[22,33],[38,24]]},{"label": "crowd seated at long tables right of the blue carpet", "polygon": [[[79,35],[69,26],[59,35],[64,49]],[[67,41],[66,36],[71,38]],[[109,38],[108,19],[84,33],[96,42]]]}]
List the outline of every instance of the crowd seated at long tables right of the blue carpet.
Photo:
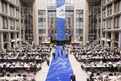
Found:
[{"label": "crowd seated at long tables right of the blue carpet", "polygon": [[[100,77],[107,75],[116,78],[121,67],[121,51],[118,48],[113,49],[101,45],[73,46],[71,53],[80,62],[82,70],[90,76],[87,81],[108,81],[109,79],[113,81],[111,77]],[[97,76],[98,78],[95,78]]]}]

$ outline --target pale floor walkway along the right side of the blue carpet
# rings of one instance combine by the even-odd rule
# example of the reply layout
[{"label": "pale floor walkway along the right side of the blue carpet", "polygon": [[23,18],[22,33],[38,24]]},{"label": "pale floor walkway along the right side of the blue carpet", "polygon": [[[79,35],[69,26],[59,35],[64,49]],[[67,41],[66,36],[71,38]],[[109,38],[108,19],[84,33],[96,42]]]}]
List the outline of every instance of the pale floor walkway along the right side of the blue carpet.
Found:
[{"label": "pale floor walkway along the right side of the blue carpet", "polygon": [[76,81],[87,81],[88,75],[84,70],[81,69],[81,64],[75,59],[75,57],[72,54],[69,55],[69,60],[73,72],[76,75]]}]

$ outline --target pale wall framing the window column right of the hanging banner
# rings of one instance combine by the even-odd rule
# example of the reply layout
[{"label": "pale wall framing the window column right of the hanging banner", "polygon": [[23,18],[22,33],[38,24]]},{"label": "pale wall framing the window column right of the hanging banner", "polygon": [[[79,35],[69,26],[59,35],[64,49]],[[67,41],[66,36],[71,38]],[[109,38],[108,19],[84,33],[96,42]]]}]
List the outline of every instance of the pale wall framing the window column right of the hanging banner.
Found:
[{"label": "pale wall framing the window column right of the hanging banner", "polygon": [[74,36],[76,36],[76,10],[83,10],[83,44],[88,40],[88,2],[74,0]]}]

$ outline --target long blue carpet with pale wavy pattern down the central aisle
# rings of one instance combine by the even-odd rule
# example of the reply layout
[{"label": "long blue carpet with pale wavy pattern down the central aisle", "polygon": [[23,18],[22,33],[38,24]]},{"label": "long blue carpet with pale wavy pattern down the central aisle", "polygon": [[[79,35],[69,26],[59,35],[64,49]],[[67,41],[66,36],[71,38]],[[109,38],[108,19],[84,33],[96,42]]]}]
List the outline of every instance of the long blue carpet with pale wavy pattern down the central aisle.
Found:
[{"label": "long blue carpet with pale wavy pattern down the central aisle", "polygon": [[[69,58],[66,57],[66,50],[63,50],[61,55],[62,46],[57,46],[55,50],[55,60],[52,59],[49,72],[46,81],[70,81],[70,77],[73,74]],[[58,57],[58,51],[60,51],[60,57]]]}]

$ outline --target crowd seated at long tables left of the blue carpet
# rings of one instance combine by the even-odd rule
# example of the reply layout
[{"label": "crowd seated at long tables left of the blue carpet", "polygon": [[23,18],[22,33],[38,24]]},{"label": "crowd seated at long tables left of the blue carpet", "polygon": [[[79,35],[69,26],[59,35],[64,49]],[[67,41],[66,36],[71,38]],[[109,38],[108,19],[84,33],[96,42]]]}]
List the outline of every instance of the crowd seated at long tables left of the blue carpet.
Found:
[{"label": "crowd seated at long tables left of the blue carpet", "polygon": [[25,45],[0,52],[0,80],[34,81],[32,75],[42,69],[41,65],[48,60],[51,50],[51,46]]}]

